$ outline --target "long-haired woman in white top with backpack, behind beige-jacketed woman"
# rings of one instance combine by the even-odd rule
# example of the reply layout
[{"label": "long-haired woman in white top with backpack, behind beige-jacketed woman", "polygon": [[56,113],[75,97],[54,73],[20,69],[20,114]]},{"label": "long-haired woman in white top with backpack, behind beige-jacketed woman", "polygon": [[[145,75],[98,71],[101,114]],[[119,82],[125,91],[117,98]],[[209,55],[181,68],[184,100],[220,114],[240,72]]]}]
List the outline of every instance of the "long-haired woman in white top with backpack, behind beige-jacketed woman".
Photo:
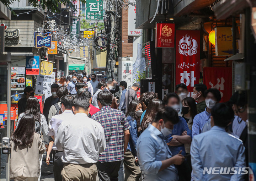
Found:
[{"label": "long-haired woman in white top with backpack, behind beige-jacketed woman", "polygon": [[[36,97],[30,96],[27,99],[26,111],[19,115],[17,125],[20,123],[21,118],[25,114],[31,114],[34,117],[34,123],[35,123],[34,130],[39,135],[41,135],[41,133],[43,133],[44,144],[46,145],[46,148],[48,148],[48,144],[49,144],[49,139],[48,139],[49,137],[47,135],[48,134],[48,125],[46,122],[46,118],[41,113],[40,104]],[[42,158],[43,158],[43,155],[40,158],[40,168],[42,165]],[[41,172],[40,172],[38,180],[40,180],[40,177],[41,177]]]}]

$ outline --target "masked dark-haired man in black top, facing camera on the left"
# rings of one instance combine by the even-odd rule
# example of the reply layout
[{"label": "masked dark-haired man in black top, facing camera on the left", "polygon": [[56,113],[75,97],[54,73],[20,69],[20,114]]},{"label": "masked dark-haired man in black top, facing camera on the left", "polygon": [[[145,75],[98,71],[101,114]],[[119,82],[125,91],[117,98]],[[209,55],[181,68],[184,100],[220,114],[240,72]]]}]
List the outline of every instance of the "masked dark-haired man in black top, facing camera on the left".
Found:
[{"label": "masked dark-haired man in black top, facing camera on the left", "polygon": [[51,85],[51,93],[52,93],[52,95],[50,97],[46,98],[46,100],[44,101],[43,114],[46,117],[47,124],[49,122],[48,115],[49,115],[50,107],[53,104],[59,102],[59,98],[58,98],[58,96],[56,94],[56,91],[57,91],[58,88],[59,88],[58,84],[55,84],[55,83],[52,84]]}]

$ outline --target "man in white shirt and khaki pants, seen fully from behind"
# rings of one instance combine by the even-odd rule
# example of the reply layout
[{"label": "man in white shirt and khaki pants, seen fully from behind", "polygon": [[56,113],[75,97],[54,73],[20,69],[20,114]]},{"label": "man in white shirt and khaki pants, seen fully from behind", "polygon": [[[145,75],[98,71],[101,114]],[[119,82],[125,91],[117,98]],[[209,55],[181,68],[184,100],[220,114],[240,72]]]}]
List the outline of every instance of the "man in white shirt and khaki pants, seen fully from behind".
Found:
[{"label": "man in white shirt and khaki pants, seen fully from behind", "polygon": [[59,151],[63,151],[62,180],[96,180],[96,163],[106,148],[103,127],[90,119],[90,103],[86,97],[79,96],[73,101],[72,120],[60,124],[54,143]]}]

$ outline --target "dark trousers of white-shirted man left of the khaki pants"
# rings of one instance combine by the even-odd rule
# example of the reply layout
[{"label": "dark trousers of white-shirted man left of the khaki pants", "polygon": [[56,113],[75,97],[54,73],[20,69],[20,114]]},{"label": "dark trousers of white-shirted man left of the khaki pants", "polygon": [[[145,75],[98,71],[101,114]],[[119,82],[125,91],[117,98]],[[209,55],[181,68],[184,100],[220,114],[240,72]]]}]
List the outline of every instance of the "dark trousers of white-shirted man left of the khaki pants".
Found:
[{"label": "dark trousers of white-shirted man left of the khaki pants", "polygon": [[54,174],[54,181],[62,181],[62,169],[63,169],[63,162],[62,157],[63,152],[54,151],[54,159],[53,159],[53,174]]}]

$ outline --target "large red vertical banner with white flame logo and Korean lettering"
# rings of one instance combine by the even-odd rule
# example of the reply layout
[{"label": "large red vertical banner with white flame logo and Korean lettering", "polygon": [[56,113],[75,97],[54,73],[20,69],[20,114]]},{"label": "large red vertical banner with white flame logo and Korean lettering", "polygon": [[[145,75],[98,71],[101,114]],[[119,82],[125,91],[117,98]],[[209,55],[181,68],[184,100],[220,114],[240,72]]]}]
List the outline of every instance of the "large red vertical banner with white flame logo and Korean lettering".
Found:
[{"label": "large red vertical banner with white flame logo and Korean lettering", "polygon": [[175,84],[184,83],[188,96],[200,78],[200,31],[176,31]]}]

